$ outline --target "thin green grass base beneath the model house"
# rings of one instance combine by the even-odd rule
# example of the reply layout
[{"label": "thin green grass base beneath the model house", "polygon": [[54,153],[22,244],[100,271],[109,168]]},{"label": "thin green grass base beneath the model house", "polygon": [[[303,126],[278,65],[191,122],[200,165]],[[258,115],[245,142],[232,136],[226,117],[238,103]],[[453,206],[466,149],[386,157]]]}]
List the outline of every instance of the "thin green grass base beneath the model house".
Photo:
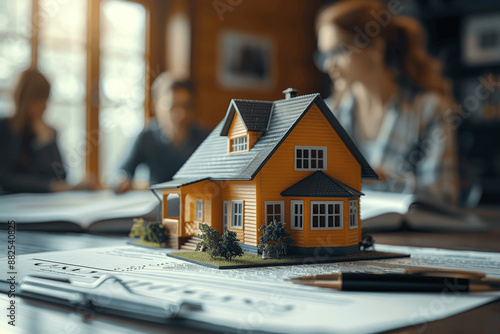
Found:
[{"label": "thin green grass base beneath the model house", "polygon": [[241,269],[255,267],[273,267],[287,266],[299,264],[317,264],[317,263],[333,263],[333,262],[350,262],[350,261],[367,261],[367,260],[382,260],[409,257],[406,254],[386,253],[377,251],[360,251],[354,254],[341,255],[329,258],[314,259],[310,256],[289,256],[283,259],[262,259],[260,255],[243,254],[232,261],[227,261],[224,258],[212,259],[207,252],[172,252],[167,256],[196,263],[205,267],[215,269]]}]

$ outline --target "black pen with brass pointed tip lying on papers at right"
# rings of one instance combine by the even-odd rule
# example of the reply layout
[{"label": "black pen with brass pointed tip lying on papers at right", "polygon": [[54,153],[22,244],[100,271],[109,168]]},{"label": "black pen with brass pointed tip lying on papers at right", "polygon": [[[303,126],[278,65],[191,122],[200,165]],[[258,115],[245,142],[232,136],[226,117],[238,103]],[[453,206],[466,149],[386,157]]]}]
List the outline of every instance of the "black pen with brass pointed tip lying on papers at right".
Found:
[{"label": "black pen with brass pointed tip lying on papers at right", "polygon": [[338,273],[290,279],[303,285],[343,291],[478,292],[500,290],[500,279],[470,279],[416,274]]}]

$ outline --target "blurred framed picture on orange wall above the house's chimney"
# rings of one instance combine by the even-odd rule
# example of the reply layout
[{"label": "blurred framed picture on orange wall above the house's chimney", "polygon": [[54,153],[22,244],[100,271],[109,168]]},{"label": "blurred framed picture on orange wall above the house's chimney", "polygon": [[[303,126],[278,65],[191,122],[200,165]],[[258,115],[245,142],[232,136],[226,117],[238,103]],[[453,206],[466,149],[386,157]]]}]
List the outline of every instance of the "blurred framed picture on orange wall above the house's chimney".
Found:
[{"label": "blurred framed picture on orange wall above the house's chimney", "polygon": [[218,81],[226,88],[271,90],[275,52],[270,38],[224,31],[219,38]]}]

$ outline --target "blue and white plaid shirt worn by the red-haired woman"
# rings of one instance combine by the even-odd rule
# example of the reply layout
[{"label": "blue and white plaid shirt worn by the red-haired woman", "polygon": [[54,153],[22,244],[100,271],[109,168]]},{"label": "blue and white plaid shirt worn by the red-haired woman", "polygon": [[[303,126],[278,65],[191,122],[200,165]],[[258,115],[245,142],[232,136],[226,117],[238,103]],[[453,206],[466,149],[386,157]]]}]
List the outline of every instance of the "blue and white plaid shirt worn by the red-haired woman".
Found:
[{"label": "blue and white plaid shirt worn by the red-haired woman", "polygon": [[[327,99],[327,103],[328,103]],[[456,203],[459,195],[456,133],[436,94],[404,95],[389,106],[378,137],[356,135],[353,99],[334,110],[370,165],[384,180],[363,187],[415,193]]]}]

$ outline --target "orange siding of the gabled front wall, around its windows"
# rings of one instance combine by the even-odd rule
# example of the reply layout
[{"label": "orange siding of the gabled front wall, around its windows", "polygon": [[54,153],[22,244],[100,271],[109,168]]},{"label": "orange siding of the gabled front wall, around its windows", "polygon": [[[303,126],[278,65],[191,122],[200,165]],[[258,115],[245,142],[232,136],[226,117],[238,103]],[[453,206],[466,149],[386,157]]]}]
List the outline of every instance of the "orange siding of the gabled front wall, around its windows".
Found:
[{"label": "orange siding of the gabled front wall, around its windows", "polygon": [[[265,221],[264,202],[285,201],[285,224],[292,233],[298,247],[322,247],[326,244],[331,247],[350,246],[357,244],[361,239],[360,227],[349,230],[348,200],[333,198],[291,198],[282,197],[281,192],[313,171],[295,170],[295,146],[325,146],[327,147],[327,169],[323,172],[340,182],[360,191],[361,166],[354,158],[342,139],[333,130],[317,105],[313,105],[297,124],[278,150],[267,161],[259,172],[259,216],[257,226]],[[304,200],[304,230],[290,229],[291,200]],[[311,230],[310,229],[310,201],[343,201],[343,230]],[[359,210],[358,210],[359,213]],[[359,220],[361,222],[361,220]],[[359,224],[361,225],[361,223]],[[260,232],[259,232],[260,235]]]}]

